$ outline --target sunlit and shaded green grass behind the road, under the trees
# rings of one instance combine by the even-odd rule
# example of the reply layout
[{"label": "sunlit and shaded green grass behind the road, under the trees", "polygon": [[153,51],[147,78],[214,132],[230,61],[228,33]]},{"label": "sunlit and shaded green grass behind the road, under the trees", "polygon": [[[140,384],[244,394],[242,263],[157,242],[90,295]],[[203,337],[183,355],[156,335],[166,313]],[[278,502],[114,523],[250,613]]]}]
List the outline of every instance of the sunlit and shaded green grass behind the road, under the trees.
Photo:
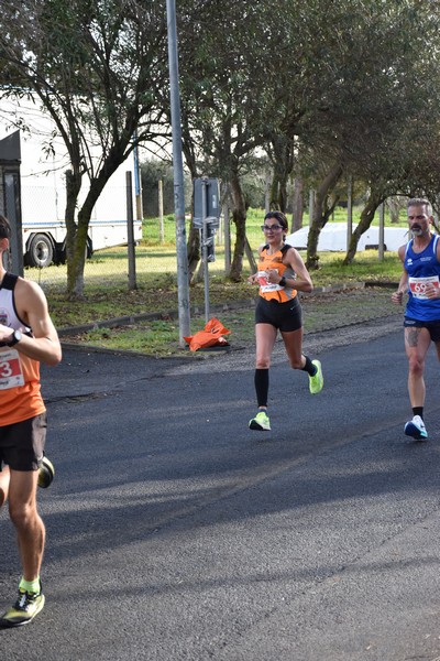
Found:
[{"label": "sunlit and shaded green grass behind the road, under the trees", "polygon": [[[341,217],[345,215],[345,217]],[[248,214],[248,237],[256,251],[262,240],[260,226],[264,212],[250,209]],[[346,212],[338,210],[338,216],[346,220]],[[48,269],[29,269],[25,275],[40,282],[50,303],[55,325],[65,329],[73,326],[95,324],[117,317],[134,317],[155,313],[162,315],[158,321],[139,321],[124,324],[118,328],[99,328],[80,336],[80,340],[110,349],[132,349],[148,355],[166,356],[178,351],[178,321],[169,316],[176,313],[178,304],[174,217],[164,219],[165,241],[160,242],[157,219],[146,219],[144,239],[136,247],[136,289],[128,289],[127,248],[111,248],[95,253],[87,261],[85,271],[84,301],[67,301],[65,295],[66,267],[57,266]],[[232,231],[232,245],[234,234]],[[304,256],[305,257],[305,256]],[[377,251],[359,252],[355,261],[343,266],[344,253],[320,253],[321,268],[311,273],[316,288],[350,282],[398,282],[402,264],[396,253],[386,252],[383,261],[378,261]],[[248,304],[241,313],[218,313],[240,336],[240,328],[250,326],[253,333],[253,312],[251,301],[257,290],[246,282],[250,266],[244,258],[243,279],[233,283],[224,278],[224,248],[216,246],[216,261],[209,264],[209,305],[210,310],[231,302]],[[191,308],[200,311],[200,316],[191,314],[191,332],[205,325],[205,283],[201,281],[190,286]],[[215,313],[211,312],[211,316]],[[217,314],[217,313],[216,313]],[[227,325],[227,324],[226,324]]]}]

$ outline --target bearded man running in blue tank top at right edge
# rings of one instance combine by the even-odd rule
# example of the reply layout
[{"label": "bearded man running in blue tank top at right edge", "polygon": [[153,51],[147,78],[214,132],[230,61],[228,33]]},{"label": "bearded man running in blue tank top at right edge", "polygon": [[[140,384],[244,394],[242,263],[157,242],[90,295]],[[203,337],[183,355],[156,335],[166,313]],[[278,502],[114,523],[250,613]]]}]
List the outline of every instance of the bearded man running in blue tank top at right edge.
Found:
[{"label": "bearded man running in blue tank top at right edge", "polygon": [[404,431],[407,436],[422,441],[428,438],[424,422],[424,372],[431,342],[435,343],[440,359],[440,241],[439,236],[431,232],[433,216],[428,199],[409,199],[407,209],[408,225],[414,238],[398,250],[404,272],[392,301],[399,305],[403,295],[408,293],[404,327],[413,420],[405,424]]}]

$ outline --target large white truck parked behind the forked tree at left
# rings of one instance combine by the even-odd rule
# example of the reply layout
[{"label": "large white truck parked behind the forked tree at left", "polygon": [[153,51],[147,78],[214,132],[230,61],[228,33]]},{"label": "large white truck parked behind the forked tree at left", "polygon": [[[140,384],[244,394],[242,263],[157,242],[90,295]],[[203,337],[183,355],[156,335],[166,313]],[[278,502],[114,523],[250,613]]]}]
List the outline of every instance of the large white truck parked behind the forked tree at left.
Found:
[{"label": "large white truck parked behind the forked tree at left", "polygon": [[[9,105],[9,107],[7,107]],[[2,101],[1,140],[16,131],[13,119],[24,118],[30,131],[20,136],[20,198],[24,264],[48,267],[65,260],[66,207],[65,172],[69,167],[61,139],[53,139],[54,124],[34,104]],[[51,148],[48,148],[51,140]],[[98,154],[97,154],[98,158]],[[87,254],[95,250],[128,242],[127,172],[131,172],[134,241],[142,239],[142,196],[136,152],[118,169],[106,184],[94,207]],[[87,176],[78,204],[87,194]]]}]

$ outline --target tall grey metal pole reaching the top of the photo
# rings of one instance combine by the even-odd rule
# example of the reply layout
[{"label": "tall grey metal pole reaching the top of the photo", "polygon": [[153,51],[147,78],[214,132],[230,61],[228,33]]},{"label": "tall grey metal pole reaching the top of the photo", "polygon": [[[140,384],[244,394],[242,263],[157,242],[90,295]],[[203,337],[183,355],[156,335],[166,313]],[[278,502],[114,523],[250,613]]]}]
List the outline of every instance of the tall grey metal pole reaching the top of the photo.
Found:
[{"label": "tall grey metal pole reaching the top of the photo", "polygon": [[173,132],[174,213],[176,221],[179,345],[183,347],[185,346],[184,337],[190,335],[190,323],[188,256],[186,249],[185,227],[185,181],[184,163],[182,158],[180,95],[178,87],[177,26],[175,0],[166,0],[166,14],[168,30],[169,97]]}]

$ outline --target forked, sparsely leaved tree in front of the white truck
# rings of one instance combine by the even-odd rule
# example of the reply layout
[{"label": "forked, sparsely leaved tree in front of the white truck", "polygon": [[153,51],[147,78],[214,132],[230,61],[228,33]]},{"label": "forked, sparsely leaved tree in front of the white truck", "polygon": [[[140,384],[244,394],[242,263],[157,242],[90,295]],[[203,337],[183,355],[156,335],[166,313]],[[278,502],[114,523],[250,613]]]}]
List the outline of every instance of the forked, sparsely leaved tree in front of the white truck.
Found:
[{"label": "forked, sparsely leaved tree in front of the white truck", "polygon": [[[31,90],[40,98],[69,155],[67,290],[81,296],[88,225],[103,186],[139,143],[164,133],[166,109],[156,102],[167,85],[164,3],[12,0],[3,21],[3,94]],[[85,176],[88,193],[76,219]]]}]

